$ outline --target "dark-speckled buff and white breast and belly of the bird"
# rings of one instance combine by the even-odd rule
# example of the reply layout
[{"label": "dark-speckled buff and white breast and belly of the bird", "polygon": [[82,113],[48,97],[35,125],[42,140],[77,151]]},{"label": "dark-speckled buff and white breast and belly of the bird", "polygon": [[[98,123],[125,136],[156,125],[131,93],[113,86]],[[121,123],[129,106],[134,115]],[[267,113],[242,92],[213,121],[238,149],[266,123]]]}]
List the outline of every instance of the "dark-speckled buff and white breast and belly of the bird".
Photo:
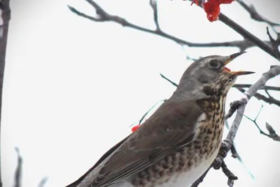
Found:
[{"label": "dark-speckled buff and white breast and belly of the bird", "polygon": [[211,165],[221,146],[224,100],[204,99],[198,104],[204,116],[197,121],[195,140],[139,172],[132,179],[135,187],[190,186]]}]

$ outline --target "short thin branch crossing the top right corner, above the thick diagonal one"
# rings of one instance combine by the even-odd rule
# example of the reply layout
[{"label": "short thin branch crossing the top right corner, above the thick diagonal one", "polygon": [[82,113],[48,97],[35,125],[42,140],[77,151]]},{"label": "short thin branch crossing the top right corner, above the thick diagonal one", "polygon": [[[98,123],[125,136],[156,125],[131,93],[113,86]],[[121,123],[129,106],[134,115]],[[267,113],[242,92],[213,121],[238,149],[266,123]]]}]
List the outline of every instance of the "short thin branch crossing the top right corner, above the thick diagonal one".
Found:
[{"label": "short thin branch crossing the top right corner, above the thick diagonal one", "polygon": [[271,22],[267,20],[267,18],[264,18],[262,15],[260,15],[256,10],[253,4],[248,6],[244,1],[237,1],[251,16],[253,20],[256,20],[258,22],[266,22],[269,26],[274,27],[274,26],[280,26],[279,23]]}]

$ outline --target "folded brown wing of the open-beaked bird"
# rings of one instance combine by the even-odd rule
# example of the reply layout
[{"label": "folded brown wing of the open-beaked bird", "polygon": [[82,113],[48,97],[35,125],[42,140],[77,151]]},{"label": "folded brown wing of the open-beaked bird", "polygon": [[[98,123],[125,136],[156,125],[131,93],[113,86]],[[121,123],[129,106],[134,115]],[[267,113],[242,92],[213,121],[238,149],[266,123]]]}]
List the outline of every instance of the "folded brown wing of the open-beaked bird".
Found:
[{"label": "folded brown wing of the open-beaked bird", "polygon": [[196,102],[167,100],[109,158],[92,187],[105,187],[149,167],[195,137],[202,114]]}]

